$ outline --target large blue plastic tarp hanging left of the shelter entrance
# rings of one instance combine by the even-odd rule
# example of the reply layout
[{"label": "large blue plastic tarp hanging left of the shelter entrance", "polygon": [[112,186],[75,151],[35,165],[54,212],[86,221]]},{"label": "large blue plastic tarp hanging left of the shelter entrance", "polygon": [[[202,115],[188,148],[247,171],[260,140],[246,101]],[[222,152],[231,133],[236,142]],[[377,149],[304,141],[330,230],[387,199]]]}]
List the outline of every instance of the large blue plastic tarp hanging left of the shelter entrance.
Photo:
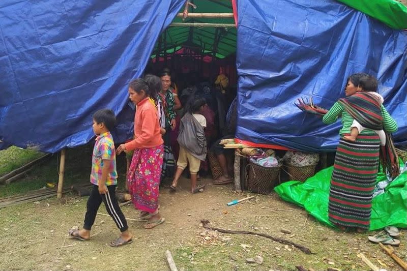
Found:
[{"label": "large blue plastic tarp hanging left of the shelter entrance", "polygon": [[127,84],[185,0],[0,1],[0,148],[56,152],[88,142],[111,108],[130,137]]}]

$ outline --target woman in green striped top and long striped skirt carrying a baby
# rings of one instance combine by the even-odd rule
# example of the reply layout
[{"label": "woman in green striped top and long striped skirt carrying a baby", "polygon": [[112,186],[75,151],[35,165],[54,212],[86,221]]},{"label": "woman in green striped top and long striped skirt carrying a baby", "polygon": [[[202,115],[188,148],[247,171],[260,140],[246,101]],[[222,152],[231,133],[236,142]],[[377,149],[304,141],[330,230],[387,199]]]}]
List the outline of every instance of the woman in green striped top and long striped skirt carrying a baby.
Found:
[{"label": "woman in green striped top and long striped skirt carrying a baby", "polygon": [[355,118],[361,121],[358,114],[365,114],[381,124],[388,135],[397,130],[397,124],[386,108],[365,94],[376,90],[377,80],[374,77],[360,73],[351,75],[345,88],[346,98],[339,99],[323,118],[325,124],[334,123],[340,116],[342,118],[328,206],[329,220],[340,230],[346,227],[356,228],[358,232],[369,229],[380,153],[379,136],[373,130],[363,130],[354,142],[345,141],[343,137],[350,135]]}]

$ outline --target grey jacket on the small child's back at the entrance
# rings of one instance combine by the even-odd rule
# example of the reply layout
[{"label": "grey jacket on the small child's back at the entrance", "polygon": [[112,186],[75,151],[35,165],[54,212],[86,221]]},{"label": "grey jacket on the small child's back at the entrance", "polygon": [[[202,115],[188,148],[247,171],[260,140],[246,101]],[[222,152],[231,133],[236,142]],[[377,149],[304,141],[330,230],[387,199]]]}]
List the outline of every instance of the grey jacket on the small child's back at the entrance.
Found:
[{"label": "grey jacket on the small child's back at the entrance", "polygon": [[191,113],[186,113],[180,122],[178,143],[201,161],[207,156],[207,139],[203,127]]}]

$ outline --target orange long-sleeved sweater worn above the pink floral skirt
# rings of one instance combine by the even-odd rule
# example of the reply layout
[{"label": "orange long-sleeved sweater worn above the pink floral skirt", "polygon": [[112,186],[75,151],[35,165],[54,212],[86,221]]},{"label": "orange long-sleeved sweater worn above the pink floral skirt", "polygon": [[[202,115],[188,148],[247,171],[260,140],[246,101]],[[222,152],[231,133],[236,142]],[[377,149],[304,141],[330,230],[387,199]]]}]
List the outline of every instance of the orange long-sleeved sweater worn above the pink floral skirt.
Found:
[{"label": "orange long-sleeved sweater worn above the pink floral skirt", "polygon": [[149,98],[137,104],[134,116],[134,139],[127,142],[126,150],[152,148],[163,144],[157,110]]}]

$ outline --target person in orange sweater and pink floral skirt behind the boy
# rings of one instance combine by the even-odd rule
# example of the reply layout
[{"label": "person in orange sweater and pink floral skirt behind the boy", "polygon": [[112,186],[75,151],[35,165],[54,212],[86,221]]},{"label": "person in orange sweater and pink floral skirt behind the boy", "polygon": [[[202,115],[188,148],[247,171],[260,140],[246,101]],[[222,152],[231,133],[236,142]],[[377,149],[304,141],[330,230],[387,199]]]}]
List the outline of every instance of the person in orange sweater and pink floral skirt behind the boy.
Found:
[{"label": "person in orange sweater and pink floral skirt behind the boy", "polygon": [[[163,223],[158,205],[161,168],[164,157],[163,140],[157,110],[150,101],[150,89],[143,79],[129,84],[129,98],[136,106],[134,139],[117,148],[117,154],[134,150],[127,182],[134,206],[140,217],[149,217],[144,228]],[[154,97],[152,97],[154,98]]]}]

